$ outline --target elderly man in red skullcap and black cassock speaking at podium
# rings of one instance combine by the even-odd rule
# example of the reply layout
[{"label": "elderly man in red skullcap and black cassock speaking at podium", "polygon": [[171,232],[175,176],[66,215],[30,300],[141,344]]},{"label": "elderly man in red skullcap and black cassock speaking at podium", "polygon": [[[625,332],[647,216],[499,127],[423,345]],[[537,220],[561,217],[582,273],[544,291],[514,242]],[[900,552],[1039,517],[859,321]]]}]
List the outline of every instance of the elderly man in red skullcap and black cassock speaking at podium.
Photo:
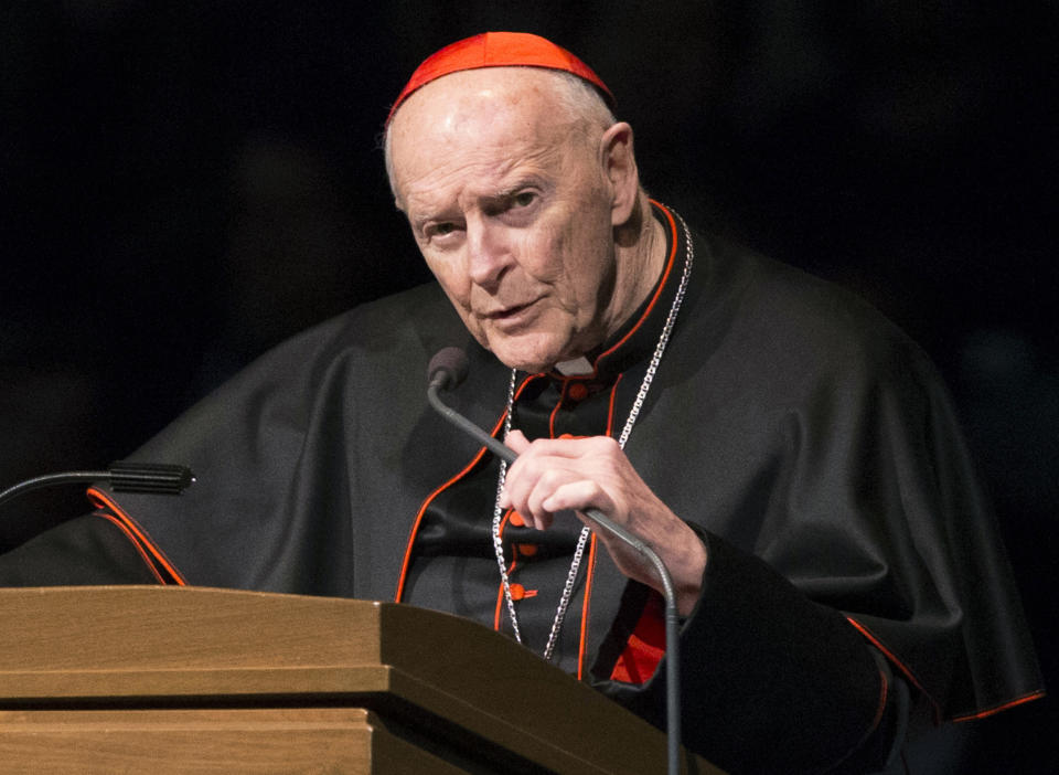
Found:
[{"label": "elderly man in red skullcap and black cassock speaking at podium", "polygon": [[[1039,696],[923,354],[650,200],[610,102],[533,35],[424,62],[386,157],[437,283],[280,346],[137,455],[194,468],[188,495],[94,489],[95,514],[0,580],[395,597],[661,723],[659,581],[587,529],[596,508],[670,567],[684,739],[732,773],[880,769],[923,716]],[[427,406],[452,343],[471,361],[453,401],[521,453],[510,468]]]}]

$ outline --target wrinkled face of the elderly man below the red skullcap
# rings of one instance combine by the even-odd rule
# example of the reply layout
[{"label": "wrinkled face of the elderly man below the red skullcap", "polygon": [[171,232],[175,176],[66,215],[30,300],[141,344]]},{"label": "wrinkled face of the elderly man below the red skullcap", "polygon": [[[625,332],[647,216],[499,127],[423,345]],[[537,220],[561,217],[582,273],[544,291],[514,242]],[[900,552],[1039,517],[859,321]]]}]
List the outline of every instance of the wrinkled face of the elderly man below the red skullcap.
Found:
[{"label": "wrinkled face of the elderly man below the red skullcap", "polygon": [[601,343],[616,314],[602,129],[549,96],[555,77],[454,73],[391,127],[394,184],[427,265],[478,341],[526,371]]}]

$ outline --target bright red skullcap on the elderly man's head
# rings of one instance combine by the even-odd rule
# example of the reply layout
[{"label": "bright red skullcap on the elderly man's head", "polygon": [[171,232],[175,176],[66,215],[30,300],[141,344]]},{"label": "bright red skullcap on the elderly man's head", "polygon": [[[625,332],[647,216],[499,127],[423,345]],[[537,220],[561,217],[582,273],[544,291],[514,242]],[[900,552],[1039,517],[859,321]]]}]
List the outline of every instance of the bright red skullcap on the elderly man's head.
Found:
[{"label": "bright red skullcap on the elderly man's head", "polygon": [[607,84],[566,49],[527,32],[483,32],[447,45],[424,60],[397,96],[386,117],[386,124],[389,124],[408,95],[442,75],[479,67],[512,66],[545,67],[573,73],[598,88],[607,104],[613,107],[614,95],[607,88]]}]

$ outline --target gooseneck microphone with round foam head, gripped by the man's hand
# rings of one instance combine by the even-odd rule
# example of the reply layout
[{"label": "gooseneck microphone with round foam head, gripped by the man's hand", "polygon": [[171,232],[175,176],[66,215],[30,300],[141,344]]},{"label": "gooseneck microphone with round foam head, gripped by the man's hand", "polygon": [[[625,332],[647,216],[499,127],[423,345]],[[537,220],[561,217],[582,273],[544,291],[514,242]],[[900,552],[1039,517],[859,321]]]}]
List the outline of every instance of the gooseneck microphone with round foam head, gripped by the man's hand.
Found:
[{"label": "gooseneck microphone with round foam head, gripped by the man's hand", "polygon": [[[518,459],[518,455],[511,447],[501,444],[482,428],[474,425],[462,414],[446,405],[438,396],[441,390],[452,390],[459,386],[469,370],[467,354],[457,347],[447,347],[435,353],[427,365],[427,400],[437,412],[456,425],[458,428],[485,445],[490,452],[510,464]],[[666,693],[666,745],[668,753],[668,772],[676,775],[680,771],[681,755],[681,679],[680,679],[680,615],[676,611],[676,590],[662,558],[648,544],[630,533],[620,524],[611,521],[599,509],[585,509],[584,513],[607,532],[619,538],[632,546],[654,566],[662,581],[662,596],[665,599],[665,650],[668,659],[665,666]]]}]

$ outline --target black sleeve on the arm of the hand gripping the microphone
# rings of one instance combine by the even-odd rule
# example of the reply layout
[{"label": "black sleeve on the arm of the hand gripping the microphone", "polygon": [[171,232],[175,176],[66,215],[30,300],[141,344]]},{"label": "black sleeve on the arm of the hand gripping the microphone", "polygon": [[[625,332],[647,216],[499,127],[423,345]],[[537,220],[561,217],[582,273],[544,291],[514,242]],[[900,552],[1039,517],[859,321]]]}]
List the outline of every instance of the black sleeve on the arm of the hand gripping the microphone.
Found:
[{"label": "black sleeve on the arm of the hand gripping the microphone", "polygon": [[[842,614],[704,538],[703,594],[681,629],[684,744],[731,773],[882,769],[907,719],[901,679]],[[627,607],[644,609],[643,590],[630,584]],[[664,729],[664,672],[663,659],[642,686],[598,688]]]}]

